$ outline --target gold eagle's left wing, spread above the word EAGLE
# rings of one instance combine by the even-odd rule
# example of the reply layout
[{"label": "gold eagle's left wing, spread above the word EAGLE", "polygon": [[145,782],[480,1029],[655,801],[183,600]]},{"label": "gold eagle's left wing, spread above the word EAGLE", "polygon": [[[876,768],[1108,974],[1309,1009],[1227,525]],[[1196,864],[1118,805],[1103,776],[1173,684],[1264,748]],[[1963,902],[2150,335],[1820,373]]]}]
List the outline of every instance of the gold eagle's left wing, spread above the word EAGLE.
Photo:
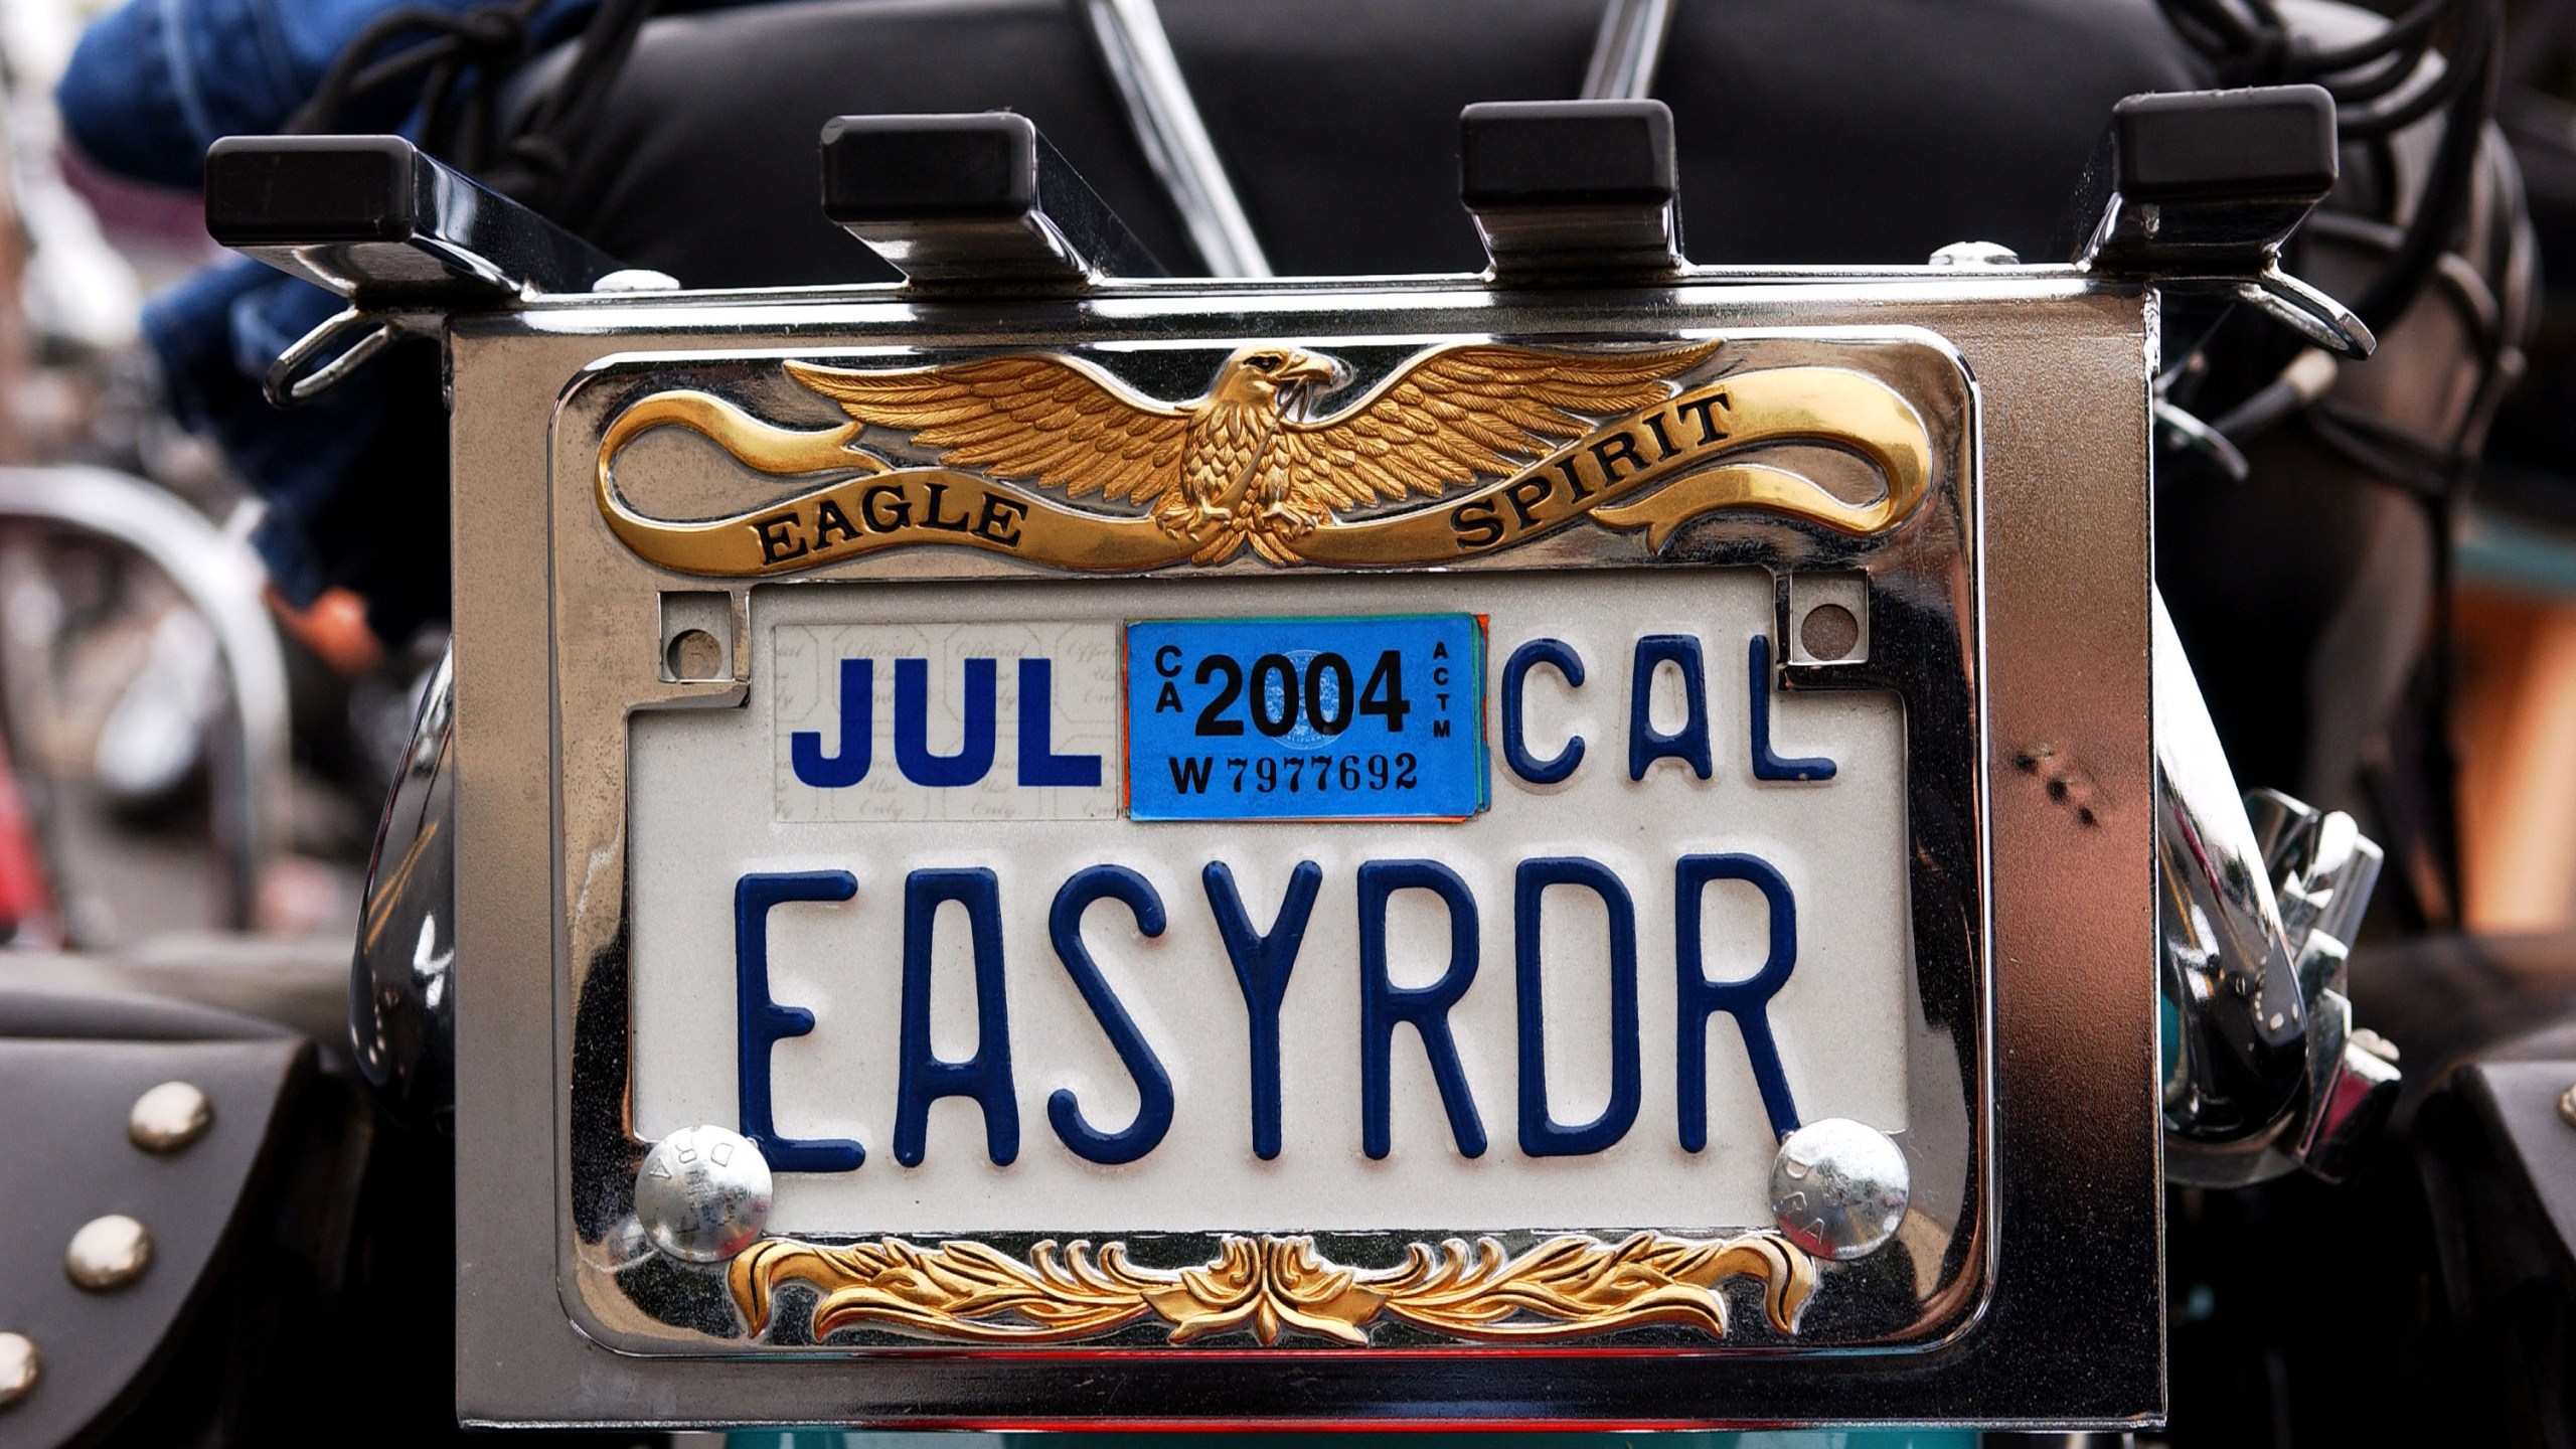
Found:
[{"label": "gold eagle's left wing, spread above the word EAGLE", "polygon": [[1033,480],[1072,498],[1151,500],[1180,482],[1190,418],[1066,358],[850,371],[786,364],[788,376],[871,428],[902,428],[940,462]]}]

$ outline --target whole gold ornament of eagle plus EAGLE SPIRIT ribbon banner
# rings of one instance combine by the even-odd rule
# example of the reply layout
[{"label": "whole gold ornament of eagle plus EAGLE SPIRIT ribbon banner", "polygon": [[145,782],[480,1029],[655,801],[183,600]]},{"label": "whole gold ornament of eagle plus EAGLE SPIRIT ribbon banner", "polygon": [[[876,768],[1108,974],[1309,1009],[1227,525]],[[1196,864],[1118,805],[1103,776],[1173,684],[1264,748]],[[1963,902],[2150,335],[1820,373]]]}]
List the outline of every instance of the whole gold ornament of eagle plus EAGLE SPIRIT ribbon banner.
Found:
[{"label": "whole gold ornament of eagle plus EAGLE SPIRIT ribbon banner", "polygon": [[[711,578],[917,544],[1087,572],[1218,565],[1244,549],[1275,565],[1394,567],[1492,554],[1584,518],[1662,547],[1721,508],[1844,534],[1914,513],[1932,438],[1896,389],[1834,366],[1674,382],[1716,351],[1443,345],[1329,418],[1306,418],[1306,400],[1347,369],[1291,345],[1236,351],[1190,402],[1144,397],[1064,353],[873,371],[791,361],[786,374],[850,423],[796,431],[706,392],[639,397],[600,438],[598,508],[647,562]],[[845,477],[726,518],[652,518],[618,495],[613,464],[654,428],[703,433],[757,472]],[[896,464],[860,446],[871,431],[909,433],[938,462]],[[1785,467],[1723,462],[1772,443],[1852,451],[1886,490],[1847,503]]]}]

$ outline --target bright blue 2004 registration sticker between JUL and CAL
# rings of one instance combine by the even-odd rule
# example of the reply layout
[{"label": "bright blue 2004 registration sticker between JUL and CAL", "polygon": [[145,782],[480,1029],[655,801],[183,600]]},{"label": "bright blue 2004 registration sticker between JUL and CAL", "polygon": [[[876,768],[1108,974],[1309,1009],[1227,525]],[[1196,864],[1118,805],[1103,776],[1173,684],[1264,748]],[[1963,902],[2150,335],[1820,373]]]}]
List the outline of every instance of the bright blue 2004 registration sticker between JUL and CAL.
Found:
[{"label": "bright blue 2004 registration sticker between JUL and CAL", "polygon": [[1126,627],[1136,820],[1463,820],[1486,807],[1484,621]]}]

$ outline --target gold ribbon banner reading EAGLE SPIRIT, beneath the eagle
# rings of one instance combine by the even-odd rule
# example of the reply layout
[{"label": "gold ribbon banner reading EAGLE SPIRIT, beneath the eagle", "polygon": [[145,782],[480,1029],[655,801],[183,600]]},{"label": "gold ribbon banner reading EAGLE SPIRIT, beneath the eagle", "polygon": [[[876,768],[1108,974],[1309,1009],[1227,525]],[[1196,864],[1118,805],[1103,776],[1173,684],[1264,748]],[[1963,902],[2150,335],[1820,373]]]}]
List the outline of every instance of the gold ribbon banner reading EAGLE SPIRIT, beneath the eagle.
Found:
[{"label": "gold ribbon banner reading EAGLE SPIRIT, beneath the eagle", "polygon": [[[724,518],[652,518],[618,495],[611,467],[636,436],[665,425],[703,433],[757,472],[855,477]],[[706,392],[654,392],[618,413],[600,438],[598,508],[644,562],[708,578],[801,572],[914,544],[984,549],[1079,572],[1144,572],[1193,557],[1221,562],[1211,557],[1206,534],[1172,531],[1154,516],[1100,513],[956,467],[896,467],[858,446],[866,428],[778,428]],[[1886,490],[1870,503],[1844,503],[1783,467],[1718,467],[1726,456],[1777,443],[1852,451],[1878,469]],[[1685,521],[1731,508],[1868,536],[1909,518],[1929,474],[1929,431],[1893,387],[1832,366],[1783,366],[1731,374],[1631,410],[1466,492],[1365,518],[1327,516],[1298,531],[1260,521],[1252,529],[1262,531],[1255,539],[1262,557],[1329,567],[1461,562],[1582,518],[1618,531],[1643,529],[1649,547],[1662,549]],[[1242,536],[1239,529],[1234,539]]]}]

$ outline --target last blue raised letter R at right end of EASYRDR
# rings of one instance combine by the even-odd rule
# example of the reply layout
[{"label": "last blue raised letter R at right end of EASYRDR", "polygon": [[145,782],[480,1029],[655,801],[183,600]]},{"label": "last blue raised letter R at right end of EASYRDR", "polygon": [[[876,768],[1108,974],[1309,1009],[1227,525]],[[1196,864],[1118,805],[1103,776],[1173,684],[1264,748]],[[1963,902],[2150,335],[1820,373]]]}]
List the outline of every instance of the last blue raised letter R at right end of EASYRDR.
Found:
[{"label": "last blue raised letter R at right end of EASYRDR", "polygon": [[[1708,980],[1700,964],[1700,892],[1708,882],[1739,879],[1762,892],[1770,902],[1770,957],[1762,969],[1739,982]],[[1762,1088],[1762,1111],[1770,1114],[1772,1134],[1788,1137],[1798,1129],[1798,1104],[1788,1096],[1788,1075],[1780,1070],[1780,1047],[1770,1034],[1770,998],[1788,985],[1788,972],[1798,967],[1798,902],[1788,882],[1762,856],[1682,856],[1672,869],[1674,890],[1674,959],[1680,964],[1682,1052],[1674,1073],[1682,1085],[1682,1150],[1708,1147],[1708,1018],[1728,1013],[1744,1036],[1744,1060],[1754,1067],[1754,1085]]]}]

